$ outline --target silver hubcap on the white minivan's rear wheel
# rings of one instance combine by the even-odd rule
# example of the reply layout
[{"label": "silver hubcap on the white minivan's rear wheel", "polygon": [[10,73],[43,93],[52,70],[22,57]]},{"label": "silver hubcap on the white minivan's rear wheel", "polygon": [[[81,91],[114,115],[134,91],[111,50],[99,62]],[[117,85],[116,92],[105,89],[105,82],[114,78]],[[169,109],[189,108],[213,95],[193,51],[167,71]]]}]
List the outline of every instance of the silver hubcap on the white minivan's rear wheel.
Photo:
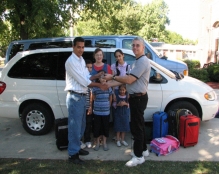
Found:
[{"label": "silver hubcap on the white minivan's rear wheel", "polygon": [[32,110],[26,117],[27,126],[33,131],[40,131],[45,126],[45,116],[38,110]]}]

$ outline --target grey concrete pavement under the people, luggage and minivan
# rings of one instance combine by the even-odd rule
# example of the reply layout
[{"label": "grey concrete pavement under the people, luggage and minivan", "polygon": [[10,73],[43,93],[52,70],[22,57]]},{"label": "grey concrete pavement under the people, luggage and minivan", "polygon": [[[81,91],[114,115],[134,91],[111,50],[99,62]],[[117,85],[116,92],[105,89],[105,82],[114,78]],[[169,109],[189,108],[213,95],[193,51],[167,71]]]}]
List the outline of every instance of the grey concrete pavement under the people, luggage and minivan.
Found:
[{"label": "grey concrete pavement under the people, luggage and minivan", "polygon": [[[67,150],[59,151],[55,145],[55,133],[52,130],[44,136],[32,136],[24,131],[19,119],[0,117],[0,158],[25,159],[67,159]],[[120,160],[130,159],[131,135],[127,134],[128,147],[117,147],[112,141],[111,131],[108,145],[110,150],[99,151],[88,149],[90,154],[85,160]],[[149,145],[148,145],[149,147]],[[199,132],[199,143],[194,147],[183,148],[165,157],[150,153],[148,160],[162,161],[219,161],[219,119],[202,122]]]}]

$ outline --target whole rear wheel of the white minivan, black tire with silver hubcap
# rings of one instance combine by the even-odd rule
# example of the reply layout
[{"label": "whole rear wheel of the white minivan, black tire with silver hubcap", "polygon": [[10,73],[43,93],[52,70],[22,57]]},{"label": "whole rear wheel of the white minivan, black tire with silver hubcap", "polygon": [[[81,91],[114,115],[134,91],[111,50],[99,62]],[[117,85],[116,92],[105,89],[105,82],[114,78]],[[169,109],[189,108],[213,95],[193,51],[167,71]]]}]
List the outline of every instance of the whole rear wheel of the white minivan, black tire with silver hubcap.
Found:
[{"label": "whole rear wheel of the white minivan, black tire with silver hubcap", "polygon": [[45,135],[52,128],[52,113],[43,104],[29,104],[22,112],[22,124],[31,135]]}]

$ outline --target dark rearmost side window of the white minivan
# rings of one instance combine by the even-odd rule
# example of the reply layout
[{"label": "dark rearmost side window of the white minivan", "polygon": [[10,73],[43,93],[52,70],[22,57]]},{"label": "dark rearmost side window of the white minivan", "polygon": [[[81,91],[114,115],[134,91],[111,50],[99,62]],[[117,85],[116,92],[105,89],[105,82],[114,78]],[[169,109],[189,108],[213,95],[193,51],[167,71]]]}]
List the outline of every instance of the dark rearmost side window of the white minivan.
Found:
[{"label": "dark rearmost side window of the white minivan", "polygon": [[55,80],[58,53],[28,55],[13,65],[8,72],[11,78]]}]

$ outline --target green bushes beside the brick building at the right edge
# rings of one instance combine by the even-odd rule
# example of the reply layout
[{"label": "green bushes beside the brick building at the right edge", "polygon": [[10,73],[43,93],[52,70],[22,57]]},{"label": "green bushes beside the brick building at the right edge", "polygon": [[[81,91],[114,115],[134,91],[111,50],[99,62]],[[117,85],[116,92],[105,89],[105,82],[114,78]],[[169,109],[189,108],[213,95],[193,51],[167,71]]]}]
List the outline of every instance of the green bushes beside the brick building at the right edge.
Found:
[{"label": "green bushes beside the brick building at the right edge", "polygon": [[188,65],[189,76],[199,79],[203,82],[219,82],[219,64],[213,64],[207,68],[200,68],[198,60],[184,60]]}]

